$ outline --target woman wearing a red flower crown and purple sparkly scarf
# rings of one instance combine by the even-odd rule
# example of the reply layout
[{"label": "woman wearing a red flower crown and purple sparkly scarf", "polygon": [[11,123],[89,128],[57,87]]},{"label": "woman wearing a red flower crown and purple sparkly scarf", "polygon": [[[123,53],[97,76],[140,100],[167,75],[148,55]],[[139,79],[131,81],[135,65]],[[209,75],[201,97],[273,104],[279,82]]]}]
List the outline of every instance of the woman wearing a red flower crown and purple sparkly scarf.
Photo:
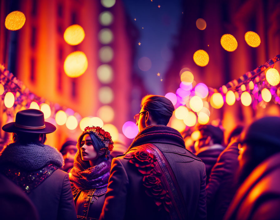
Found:
[{"label": "woman wearing a red flower crown and purple sparkly scarf", "polygon": [[69,173],[78,219],[98,219],[107,191],[113,150],[110,133],[87,127],[78,138],[78,152]]}]

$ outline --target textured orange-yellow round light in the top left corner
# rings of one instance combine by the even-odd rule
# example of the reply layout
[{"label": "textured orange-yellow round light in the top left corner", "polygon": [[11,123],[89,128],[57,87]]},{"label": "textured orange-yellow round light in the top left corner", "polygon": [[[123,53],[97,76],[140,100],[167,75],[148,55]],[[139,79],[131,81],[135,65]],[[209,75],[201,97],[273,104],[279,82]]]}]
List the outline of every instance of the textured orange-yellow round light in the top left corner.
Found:
[{"label": "textured orange-yellow round light in the top left corner", "polygon": [[8,30],[16,31],[22,28],[25,23],[25,15],[20,11],[9,13],[5,19],[5,27]]}]

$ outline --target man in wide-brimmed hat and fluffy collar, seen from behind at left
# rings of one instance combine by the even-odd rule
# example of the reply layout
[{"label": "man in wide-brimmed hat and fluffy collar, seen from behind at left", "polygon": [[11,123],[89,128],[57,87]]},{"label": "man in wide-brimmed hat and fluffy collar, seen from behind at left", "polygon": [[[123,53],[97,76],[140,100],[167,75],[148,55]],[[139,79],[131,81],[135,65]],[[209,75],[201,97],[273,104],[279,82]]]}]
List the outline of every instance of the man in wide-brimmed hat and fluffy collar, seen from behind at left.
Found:
[{"label": "man in wide-brimmed hat and fluffy collar, seen from behind at left", "polygon": [[44,144],[56,127],[40,110],[26,109],[2,129],[13,133],[13,143],[0,153],[0,172],[27,193],[40,219],[77,219],[68,173],[59,169],[63,157]]}]

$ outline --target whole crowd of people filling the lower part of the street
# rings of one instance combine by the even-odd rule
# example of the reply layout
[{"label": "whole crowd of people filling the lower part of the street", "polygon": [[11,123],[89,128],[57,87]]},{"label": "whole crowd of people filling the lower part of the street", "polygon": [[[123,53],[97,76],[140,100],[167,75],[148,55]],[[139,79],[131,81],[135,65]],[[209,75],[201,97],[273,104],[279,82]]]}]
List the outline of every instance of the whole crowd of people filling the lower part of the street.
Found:
[{"label": "whole crowd of people filling the lower part of the street", "polygon": [[[201,125],[192,145],[167,126],[174,106],[142,99],[139,133],[113,151],[110,134],[87,127],[60,152],[40,110],[19,111],[2,127],[1,219],[280,219],[280,117],[234,128]],[[226,144],[225,144],[226,143]],[[118,143],[119,144],[119,143]]]}]

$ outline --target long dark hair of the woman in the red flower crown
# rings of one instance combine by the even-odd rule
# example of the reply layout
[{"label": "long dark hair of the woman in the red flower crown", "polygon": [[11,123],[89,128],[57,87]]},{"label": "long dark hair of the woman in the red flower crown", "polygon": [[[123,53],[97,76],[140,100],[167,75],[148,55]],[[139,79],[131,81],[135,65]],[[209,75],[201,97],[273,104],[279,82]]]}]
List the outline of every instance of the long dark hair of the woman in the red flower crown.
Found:
[{"label": "long dark hair of the woman in the red flower crown", "polygon": [[[93,148],[98,152],[98,157],[104,157],[105,159],[105,153],[101,153],[100,150],[102,148],[105,148],[105,144],[98,138],[96,137],[96,135],[92,132],[89,132],[89,133],[85,133],[83,134],[83,136],[85,136],[86,134],[89,134],[90,138],[91,138],[91,141],[93,143]],[[84,170],[90,168],[90,164],[88,161],[84,161],[82,160],[82,155],[81,155],[81,142],[83,140],[83,136],[81,136],[79,139],[78,139],[78,144],[77,144],[77,148],[78,148],[78,151],[75,155],[75,159],[74,159],[74,163],[78,163],[80,165],[80,168],[83,168]]]}]

